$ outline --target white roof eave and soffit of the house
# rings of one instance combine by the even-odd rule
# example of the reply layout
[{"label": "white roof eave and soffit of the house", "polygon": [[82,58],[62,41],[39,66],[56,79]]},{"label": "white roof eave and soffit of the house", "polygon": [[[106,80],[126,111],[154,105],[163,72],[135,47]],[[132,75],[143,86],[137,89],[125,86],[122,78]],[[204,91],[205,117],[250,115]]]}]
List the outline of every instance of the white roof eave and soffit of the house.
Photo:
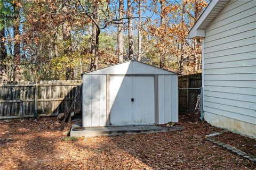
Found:
[{"label": "white roof eave and soffit of the house", "polygon": [[199,39],[205,36],[205,29],[214,20],[214,18],[225,7],[229,0],[212,0],[205,8],[199,19],[188,33],[188,38]]}]

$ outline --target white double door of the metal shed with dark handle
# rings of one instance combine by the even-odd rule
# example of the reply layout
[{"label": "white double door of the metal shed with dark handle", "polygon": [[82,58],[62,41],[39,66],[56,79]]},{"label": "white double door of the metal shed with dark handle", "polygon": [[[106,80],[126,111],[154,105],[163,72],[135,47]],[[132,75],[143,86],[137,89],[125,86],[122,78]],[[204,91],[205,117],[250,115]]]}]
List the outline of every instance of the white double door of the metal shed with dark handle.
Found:
[{"label": "white double door of the metal shed with dark handle", "polygon": [[111,125],[155,123],[153,76],[111,76],[109,88]]}]

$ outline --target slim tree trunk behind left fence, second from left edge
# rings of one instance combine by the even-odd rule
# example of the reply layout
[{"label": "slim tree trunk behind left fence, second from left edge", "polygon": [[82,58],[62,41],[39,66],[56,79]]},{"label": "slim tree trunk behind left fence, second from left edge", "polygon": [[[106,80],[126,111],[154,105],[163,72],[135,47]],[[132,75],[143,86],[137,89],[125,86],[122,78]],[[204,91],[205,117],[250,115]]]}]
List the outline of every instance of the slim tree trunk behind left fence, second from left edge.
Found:
[{"label": "slim tree trunk behind left fence, second from left edge", "polygon": [[[20,8],[13,4],[14,18],[16,22],[13,25],[13,37],[20,35]],[[19,81],[21,79],[20,73],[20,41],[14,40],[14,69],[13,69],[13,81]]]}]

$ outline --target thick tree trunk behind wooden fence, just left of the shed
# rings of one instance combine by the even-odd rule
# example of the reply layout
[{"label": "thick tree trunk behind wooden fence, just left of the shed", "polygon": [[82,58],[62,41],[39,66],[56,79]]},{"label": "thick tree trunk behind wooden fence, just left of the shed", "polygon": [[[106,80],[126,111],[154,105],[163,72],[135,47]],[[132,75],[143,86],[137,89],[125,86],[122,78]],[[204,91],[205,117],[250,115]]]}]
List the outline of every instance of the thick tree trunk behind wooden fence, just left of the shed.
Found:
[{"label": "thick tree trunk behind wooden fence, just left of the shed", "polygon": [[[62,0],[62,12],[65,15],[68,15],[70,12],[70,1],[69,0]],[[65,49],[64,54],[70,54],[71,52],[71,27],[68,21],[65,21],[62,24],[62,35],[63,40],[65,42]],[[74,80],[74,68],[68,67],[66,69],[66,80]]]}]

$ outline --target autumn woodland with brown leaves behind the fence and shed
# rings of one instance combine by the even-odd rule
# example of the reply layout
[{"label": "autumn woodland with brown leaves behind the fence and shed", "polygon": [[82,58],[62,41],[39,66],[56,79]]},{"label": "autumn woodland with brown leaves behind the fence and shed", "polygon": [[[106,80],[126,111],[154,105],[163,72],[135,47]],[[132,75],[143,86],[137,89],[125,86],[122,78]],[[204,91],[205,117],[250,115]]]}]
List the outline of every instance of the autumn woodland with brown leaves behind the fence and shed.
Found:
[{"label": "autumn woodland with brown leaves behind the fence and shed", "polygon": [[[118,57],[129,60],[131,53],[180,74],[201,72],[201,46],[186,37],[206,0],[134,1],[130,14],[126,5],[120,18],[118,0],[2,0],[0,5],[1,80],[81,79],[81,72]],[[119,43],[117,27],[123,35]]]}]

